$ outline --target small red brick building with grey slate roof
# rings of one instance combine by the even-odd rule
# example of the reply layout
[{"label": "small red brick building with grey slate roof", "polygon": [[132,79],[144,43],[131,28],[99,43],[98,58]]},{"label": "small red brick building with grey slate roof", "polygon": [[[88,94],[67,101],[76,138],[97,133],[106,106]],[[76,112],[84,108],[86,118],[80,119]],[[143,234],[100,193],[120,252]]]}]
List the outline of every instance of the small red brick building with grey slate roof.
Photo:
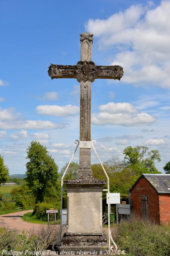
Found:
[{"label": "small red brick building with grey slate roof", "polygon": [[139,216],[170,224],[170,174],[141,174],[129,190],[129,203]]}]

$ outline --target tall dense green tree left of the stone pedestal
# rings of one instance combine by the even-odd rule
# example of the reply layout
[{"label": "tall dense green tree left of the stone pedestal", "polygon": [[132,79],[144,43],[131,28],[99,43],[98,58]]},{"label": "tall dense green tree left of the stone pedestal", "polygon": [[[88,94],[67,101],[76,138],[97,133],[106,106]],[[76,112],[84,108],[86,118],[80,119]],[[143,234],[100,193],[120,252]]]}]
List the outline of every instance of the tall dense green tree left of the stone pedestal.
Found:
[{"label": "tall dense green tree left of the stone pedestal", "polygon": [[59,178],[58,166],[49,154],[46,146],[37,140],[31,142],[27,148],[25,178],[28,187],[35,195],[35,202],[43,202],[47,198],[56,197],[58,193],[57,179]]}]

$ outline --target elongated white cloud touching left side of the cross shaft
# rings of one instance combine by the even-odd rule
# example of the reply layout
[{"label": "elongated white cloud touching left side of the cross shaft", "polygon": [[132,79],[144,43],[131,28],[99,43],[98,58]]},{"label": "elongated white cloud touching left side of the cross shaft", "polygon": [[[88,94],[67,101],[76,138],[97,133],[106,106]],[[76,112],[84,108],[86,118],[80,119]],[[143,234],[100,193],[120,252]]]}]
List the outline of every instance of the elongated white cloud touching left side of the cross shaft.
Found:
[{"label": "elongated white cloud touching left side of the cross shaft", "polygon": [[70,116],[76,115],[79,112],[77,106],[66,105],[40,105],[36,108],[38,114],[51,115],[51,116]]}]

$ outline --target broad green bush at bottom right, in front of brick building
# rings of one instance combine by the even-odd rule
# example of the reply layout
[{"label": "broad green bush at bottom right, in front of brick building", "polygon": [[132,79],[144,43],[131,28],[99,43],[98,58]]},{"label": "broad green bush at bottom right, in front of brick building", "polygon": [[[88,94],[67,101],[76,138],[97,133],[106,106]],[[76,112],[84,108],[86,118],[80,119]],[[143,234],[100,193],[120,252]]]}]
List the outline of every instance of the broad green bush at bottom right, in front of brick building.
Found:
[{"label": "broad green bush at bottom right, in front of brick building", "polygon": [[126,256],[169,256],[170,230],[150,221],[131,218],[113,225],[113,240]]}]

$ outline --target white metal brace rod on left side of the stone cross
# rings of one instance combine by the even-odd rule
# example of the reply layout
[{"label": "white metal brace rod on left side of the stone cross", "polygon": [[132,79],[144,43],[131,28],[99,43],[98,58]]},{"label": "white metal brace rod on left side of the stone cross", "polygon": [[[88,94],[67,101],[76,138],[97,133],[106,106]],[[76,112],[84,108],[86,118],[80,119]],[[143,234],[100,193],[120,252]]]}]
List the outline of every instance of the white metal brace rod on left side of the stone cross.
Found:
[{"label": "white metal brace rod on left side of the stone cross", "polygon": [[65,170],[64,173],[63,173],[63,176],[61,177],[60,230],[59,230],[59,234],[58,234],[57,239],[56,239],[55,242],[53,243],[53,246],[52,246],[52,249],[53,249],[53,250],[55,250],[55,249],[54,249],[54,246],[55,246],[55,244],[57,243],[58,240],[59,240],[59,246],[61,246],[63,190],[65,190],[65,189],[63,189],[63,179],[64,179],[64,176],[65,176],[65,174],[66,174],[66,172],[67,172],[67,170],[68,170],[68,168],[69,168],[69,166],[70,166],[70,163],[72,162],[72,158],[73,158],[74,155],[76,154],[77,148],[78,148],[78,146],[79,146],[79,140],[74,140],[74,143],[75,143],[75,144],[78,143],[78,144],[77,144],[77,146],[76,146],[76,148],[75,148],[75,150],[74,150],[74,152],[73,152],[73,154],[72,154],[72,157],[70,158],[70,161],[68,162],[68,165],[67,165],[67,167],[66,167],[66,170]]}]

